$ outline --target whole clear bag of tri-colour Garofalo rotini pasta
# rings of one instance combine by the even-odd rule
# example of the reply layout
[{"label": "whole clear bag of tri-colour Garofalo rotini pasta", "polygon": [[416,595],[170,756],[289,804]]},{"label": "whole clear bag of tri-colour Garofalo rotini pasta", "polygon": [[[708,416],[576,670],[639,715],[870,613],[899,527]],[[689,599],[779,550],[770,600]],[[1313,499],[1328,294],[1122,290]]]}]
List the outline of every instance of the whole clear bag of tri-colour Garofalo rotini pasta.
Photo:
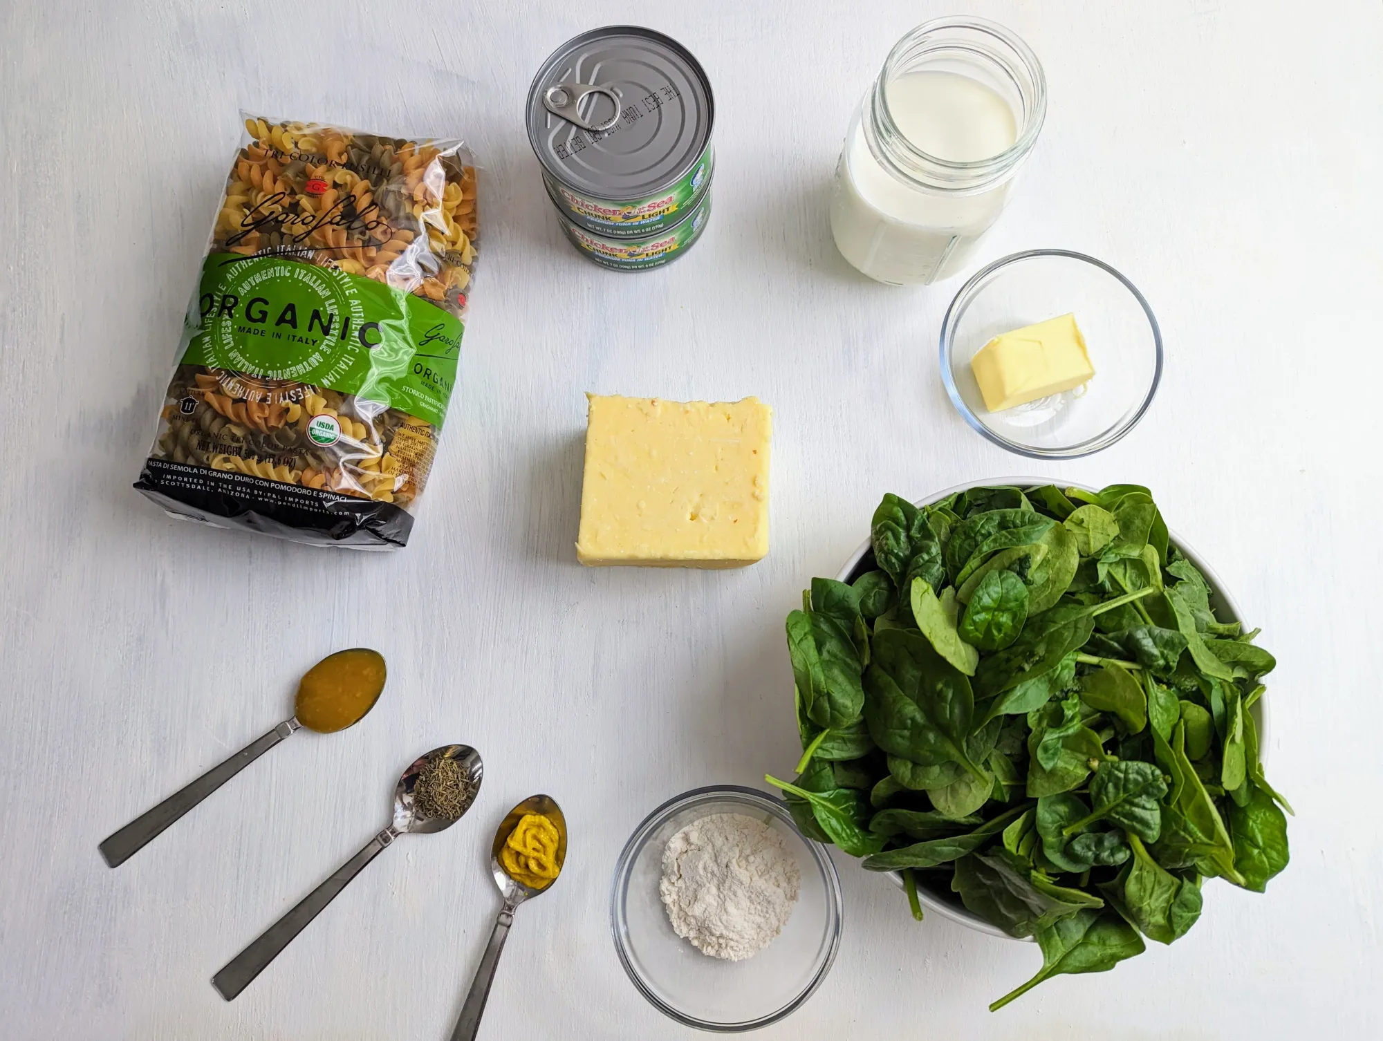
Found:
[{"label": "whole clear bag of tri-colour Garofalo rotini pasta", "polygon": [[408,542],[476,260],[461,141],[246,118],[136,488],[299,542]]}]

